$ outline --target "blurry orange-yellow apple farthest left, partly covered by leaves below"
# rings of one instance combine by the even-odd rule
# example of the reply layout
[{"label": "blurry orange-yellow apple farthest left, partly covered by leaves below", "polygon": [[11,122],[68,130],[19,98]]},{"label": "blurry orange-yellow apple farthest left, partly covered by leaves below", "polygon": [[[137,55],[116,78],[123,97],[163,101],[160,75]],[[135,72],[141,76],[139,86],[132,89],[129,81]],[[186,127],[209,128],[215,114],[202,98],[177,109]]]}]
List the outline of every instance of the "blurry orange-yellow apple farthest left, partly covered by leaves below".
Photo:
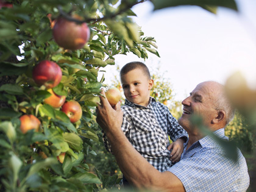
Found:
[{"label": "blurry orange-yellow apple farthest left, partly covered by leaves below", "polygon": [[21,132],[26,133],[28,130],[35,129],[38,131],[41,125],[41,122],[34,115],[23,115],[20,117],[21,121]]}]

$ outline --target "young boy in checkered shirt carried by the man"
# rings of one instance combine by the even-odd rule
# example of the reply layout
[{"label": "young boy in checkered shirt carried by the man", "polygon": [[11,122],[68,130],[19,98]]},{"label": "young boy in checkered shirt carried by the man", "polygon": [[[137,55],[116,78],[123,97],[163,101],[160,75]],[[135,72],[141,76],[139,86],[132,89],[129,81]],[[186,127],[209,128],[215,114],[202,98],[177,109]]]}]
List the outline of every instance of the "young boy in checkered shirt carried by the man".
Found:
[{"label": "young boy in checkered shirt carried by the man", "polygon": [[[130,62],[120,71],[126,102],[122,130],[132,146],[158,171],[165,171],[180,160],[187,132],[178,124],[168,107],[150,96],[154,80],[148,67],[141,62]],[[169,144],[168,135],[174,141]],[[103,134],[107,151],[111,146]],[[171,150],[171,152],[170,152]]]}]

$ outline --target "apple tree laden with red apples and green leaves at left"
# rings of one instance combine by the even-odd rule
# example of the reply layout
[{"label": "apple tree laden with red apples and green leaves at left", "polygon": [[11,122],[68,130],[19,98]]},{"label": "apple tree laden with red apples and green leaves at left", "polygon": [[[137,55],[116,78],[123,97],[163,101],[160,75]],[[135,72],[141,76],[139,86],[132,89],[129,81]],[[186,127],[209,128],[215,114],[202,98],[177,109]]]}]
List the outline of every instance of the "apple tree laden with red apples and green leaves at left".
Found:
[{"label": "apple tree laden with red apples and green leaves at left", "polygon": [[[117,176],[90,171],[101,135],[95,121],[104,66],[115,55],[158,55],[133,22],[146,0],[0,1],[1,191],[99,191]],[[235,1],[151,1],[236,9]],[[159,56],[159,55],[158,55]],[[22,128],[21,128],[22,127]]]}]

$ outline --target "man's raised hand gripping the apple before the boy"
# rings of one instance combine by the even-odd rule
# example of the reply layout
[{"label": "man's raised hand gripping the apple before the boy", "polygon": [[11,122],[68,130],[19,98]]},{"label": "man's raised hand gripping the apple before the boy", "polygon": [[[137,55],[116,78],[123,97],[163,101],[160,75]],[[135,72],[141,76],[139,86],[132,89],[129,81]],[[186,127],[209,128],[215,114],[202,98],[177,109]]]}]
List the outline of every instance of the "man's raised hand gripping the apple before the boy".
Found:
[{"label": "man's raised hand gripping the apple before the boy", "polygon": [[101,94],[103,96],[99,96],[101,104],[98,104],[96,109],[96,121],[108,136],[108,133],[115,132],[116,128],[121,129],[121,125],[123,123],[123,112],[121,110],[120,102],[112,107],[105,97],[104,90],[101,90]]}]

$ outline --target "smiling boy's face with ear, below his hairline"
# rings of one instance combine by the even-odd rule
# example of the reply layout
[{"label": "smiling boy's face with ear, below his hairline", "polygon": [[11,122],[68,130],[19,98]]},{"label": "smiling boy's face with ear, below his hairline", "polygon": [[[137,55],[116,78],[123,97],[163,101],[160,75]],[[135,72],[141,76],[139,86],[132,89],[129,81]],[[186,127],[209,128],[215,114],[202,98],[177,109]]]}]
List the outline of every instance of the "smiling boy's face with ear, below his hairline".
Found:
[{"label": "smiling boy's face with ear, below his hairline", "polygon": [[136,68],[121,76],[126,99],[138,105],[147,106],[154,81],[148,79],[143,69]]}]

